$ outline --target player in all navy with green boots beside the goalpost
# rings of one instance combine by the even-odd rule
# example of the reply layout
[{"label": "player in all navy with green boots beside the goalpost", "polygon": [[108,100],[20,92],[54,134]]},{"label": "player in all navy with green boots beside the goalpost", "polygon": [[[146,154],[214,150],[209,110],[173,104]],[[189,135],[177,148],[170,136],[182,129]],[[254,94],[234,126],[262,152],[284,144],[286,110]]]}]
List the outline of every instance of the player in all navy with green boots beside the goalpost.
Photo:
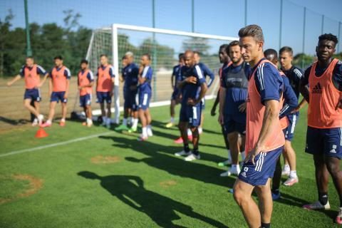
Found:
[{"label": "player in all navy with green boots beside the goalpost", "polygon": [[[125,84],[123,85],[123,98],[125,100],[125,103],[123,104],[123,123],[115,128],[115,130],[129,130],[129,132],[136,132],[138,128],[138,105],[135,97],[138,93],[139,68],[133,62],[134,56],[132,52],[128,51],[125,53],[125,58],[127,66],[123,68],[123,80],[125,81]],[[127,118],[130,113],[133,115],[133,123],[131,128],[128,129]]]}]

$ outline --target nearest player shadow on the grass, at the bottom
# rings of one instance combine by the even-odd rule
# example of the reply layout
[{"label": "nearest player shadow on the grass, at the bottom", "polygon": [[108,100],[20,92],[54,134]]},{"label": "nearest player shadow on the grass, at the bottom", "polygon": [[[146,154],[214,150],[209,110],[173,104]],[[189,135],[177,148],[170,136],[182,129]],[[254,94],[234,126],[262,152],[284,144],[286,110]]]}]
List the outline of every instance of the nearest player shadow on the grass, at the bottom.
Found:
[{"label": "nearest player shadow on the grass, at the bottom", "polygon": [[[90,180],[100,180],[100,185],[111,195],[120,199],[128,206],[145,213],[159,227],[183,227],[173,224],[173,220],[181,219],[176,212],[193,219],[199,219],[214,227],[227,227],[202,214],[194,212],[192,207],[170,199],[157,192],[145,189],[140,177],[132,175],[110,175],[101,177],[94,172],[82,171],[78,175]],[[134,221],[132,221],[134,222]]]}]

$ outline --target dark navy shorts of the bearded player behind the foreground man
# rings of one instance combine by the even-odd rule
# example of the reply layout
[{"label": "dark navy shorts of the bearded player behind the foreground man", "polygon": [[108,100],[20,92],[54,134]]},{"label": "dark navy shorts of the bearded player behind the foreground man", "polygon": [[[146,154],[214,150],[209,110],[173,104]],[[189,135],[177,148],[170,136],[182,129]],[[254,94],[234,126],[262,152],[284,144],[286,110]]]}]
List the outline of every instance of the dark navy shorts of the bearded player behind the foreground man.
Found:
[{"label": "dark navy shorts of the bearded player behind the foreground man", "polygon": [[246,135],[246,113],[241,115],[224,115],[224,128],[226,133],[238,132]]}]

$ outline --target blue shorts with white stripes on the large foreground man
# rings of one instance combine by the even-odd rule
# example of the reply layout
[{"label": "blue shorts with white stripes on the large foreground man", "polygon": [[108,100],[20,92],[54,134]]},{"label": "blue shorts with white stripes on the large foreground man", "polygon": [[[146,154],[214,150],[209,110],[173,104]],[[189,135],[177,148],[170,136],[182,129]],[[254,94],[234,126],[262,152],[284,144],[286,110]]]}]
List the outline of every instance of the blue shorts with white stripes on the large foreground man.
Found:
[{"label": "blue shorts with white stripes on the large foreground man", "polygon": [[276,161],[283,152],[283,148],[284,146],[269,152],[259,153],[254,158],[255,165],[251,161],[244,162],[239,174],[239,180],[253,186],[266,185],[267,180],[273,177]]}]

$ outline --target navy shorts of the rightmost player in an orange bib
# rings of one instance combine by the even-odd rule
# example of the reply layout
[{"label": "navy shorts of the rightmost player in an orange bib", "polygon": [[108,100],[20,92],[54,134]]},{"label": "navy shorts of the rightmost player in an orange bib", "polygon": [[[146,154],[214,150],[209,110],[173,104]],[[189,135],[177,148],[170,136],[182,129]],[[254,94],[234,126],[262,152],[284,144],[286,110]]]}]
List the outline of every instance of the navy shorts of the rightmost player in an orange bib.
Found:
[{"label": "navy shorts of the rightmost player in an orange bib", "polygon": [[305,152],[342,158],[342,128],[311,128],[306,131]]}]

